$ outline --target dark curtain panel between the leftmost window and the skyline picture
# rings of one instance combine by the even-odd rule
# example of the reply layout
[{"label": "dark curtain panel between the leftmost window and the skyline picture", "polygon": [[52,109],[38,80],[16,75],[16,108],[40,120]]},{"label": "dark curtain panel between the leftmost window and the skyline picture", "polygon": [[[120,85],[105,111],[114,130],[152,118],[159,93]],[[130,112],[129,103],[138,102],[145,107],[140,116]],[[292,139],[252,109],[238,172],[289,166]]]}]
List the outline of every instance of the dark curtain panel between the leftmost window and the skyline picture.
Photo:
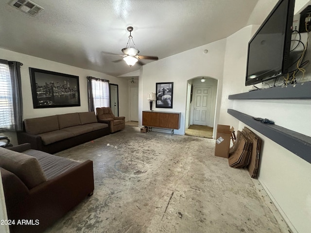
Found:
[{"label": "dark curtain panel between the leftmost window and the skyline picture", "polygon": [[12,83],[15,131],[23,130],[23,100],[21,92],[20,62],[8,62]]}]

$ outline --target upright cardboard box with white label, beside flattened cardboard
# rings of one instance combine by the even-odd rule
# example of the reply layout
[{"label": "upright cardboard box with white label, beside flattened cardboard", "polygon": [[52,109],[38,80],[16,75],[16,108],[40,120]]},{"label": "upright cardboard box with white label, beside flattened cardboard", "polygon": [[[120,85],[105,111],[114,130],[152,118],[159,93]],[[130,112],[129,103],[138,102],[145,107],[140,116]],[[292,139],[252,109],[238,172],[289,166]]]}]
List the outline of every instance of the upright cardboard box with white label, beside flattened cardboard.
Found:
[{"label": "upright cardboard box with white label, beside flattened cardboard", "polygon": [[231,133],[234,128],[230,129],[229,125],[217,125],[215,156],[229,158],[229,148]]}]

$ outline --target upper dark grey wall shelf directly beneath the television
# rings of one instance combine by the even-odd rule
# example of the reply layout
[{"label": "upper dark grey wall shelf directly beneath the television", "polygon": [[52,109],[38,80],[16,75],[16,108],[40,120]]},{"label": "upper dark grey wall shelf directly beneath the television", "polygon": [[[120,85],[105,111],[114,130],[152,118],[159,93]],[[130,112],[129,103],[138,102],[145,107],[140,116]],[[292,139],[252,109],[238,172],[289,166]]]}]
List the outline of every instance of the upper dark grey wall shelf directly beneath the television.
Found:
[{"label": "upper dark grey wall shelf directly beneath the television", "polygon": [[311,99],[311,81],[229,95],[229,100]]}]

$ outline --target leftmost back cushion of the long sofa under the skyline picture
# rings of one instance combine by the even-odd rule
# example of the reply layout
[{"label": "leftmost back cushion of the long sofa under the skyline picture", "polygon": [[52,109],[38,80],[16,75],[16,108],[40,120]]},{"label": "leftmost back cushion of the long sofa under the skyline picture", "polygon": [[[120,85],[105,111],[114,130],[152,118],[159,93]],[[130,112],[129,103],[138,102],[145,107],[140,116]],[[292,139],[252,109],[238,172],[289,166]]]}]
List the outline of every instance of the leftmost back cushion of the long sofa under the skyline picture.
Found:
[{"label": "leftmost back cushion of the long sofa under the skyline picture", "polygon": [[57,116],[44,116],[25,119],[25,130],[27,133],[39,134],[58,130]]}]

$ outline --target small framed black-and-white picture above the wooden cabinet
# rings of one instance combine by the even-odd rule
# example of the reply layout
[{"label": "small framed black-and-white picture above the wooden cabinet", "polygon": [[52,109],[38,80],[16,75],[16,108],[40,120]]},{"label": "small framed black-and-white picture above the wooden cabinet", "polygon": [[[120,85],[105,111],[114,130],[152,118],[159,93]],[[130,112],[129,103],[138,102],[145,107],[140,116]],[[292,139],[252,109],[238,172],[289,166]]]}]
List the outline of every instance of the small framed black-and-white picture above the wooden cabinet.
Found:
[{"label": "small framed black-and-white picture above the wooden cabinet", "polygon": [[173,83],[155,83],[156,108],[173,108]]}]

